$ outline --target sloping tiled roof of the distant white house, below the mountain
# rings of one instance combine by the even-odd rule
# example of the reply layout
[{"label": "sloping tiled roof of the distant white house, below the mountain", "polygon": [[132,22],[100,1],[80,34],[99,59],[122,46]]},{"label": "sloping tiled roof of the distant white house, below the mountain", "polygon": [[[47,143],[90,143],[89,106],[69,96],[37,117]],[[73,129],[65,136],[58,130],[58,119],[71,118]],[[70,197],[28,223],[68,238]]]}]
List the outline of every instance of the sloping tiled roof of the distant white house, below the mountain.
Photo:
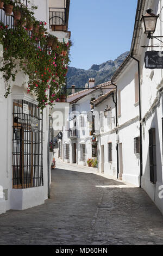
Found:
[{"label": "sloping tiled roof of the distant white house, below the mountain", "polygon": [[80,92],[73,93],[67,96],[67,102],[74,103],[77,102],[78,100],[82,99],[82,97],[85,97],[86,95],[95,92],[96,90],[100,88],[106,88],[107,86],[111,85],[111,81],[104,82],[101,84],[97,84],[97,86],[92,87],[92,88],[87,88],[85,90],[80,90]]}]

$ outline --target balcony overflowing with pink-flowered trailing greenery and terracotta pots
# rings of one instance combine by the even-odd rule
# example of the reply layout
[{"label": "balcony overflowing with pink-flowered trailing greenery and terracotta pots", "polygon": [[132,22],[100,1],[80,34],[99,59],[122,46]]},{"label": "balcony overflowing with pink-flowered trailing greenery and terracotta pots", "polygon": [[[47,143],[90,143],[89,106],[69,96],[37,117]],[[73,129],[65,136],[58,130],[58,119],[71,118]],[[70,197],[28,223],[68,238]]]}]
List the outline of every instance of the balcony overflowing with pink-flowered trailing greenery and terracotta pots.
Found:
[{"label": "balcony overflowing with pink-flowered trailing greenery and terracotta pots", "polygon": [[37,7],[30,4],[28,8],[27,1],[24,3],[0,0],[0,44],[3,47],[0,71],[5,84],[4,96],[12,92],[12,82],[16,85],[17,75],[22,72],[28,77],[22,85],[29,95],[35,95],[38,107],[53,107],[58,95],[62,95],[60,89],[65,88],[71,42],[60,42],[56,36],[48,34],[47,23],[35,19]]}]

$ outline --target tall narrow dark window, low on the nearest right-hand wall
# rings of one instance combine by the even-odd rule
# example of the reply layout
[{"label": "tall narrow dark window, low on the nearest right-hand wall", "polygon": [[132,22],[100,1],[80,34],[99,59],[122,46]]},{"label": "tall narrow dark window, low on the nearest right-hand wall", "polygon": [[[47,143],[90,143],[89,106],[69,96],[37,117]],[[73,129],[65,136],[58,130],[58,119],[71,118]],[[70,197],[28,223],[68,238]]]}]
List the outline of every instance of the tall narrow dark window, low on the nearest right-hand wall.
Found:
[{"label": "tall narrow dark window, low on the nearest right-hand wall", "polygon": [[155,143],[155,128],[149,130],[149,170],[150,181],[156,182],[156,143]]}]

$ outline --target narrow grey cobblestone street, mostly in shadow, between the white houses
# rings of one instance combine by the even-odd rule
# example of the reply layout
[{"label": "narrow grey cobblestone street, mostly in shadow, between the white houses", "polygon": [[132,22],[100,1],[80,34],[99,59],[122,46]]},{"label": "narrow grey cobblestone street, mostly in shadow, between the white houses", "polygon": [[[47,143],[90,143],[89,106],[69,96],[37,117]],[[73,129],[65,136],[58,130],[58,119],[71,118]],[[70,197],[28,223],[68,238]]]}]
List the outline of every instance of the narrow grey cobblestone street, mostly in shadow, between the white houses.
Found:
[{"label": "narrow grey cobblestone street, mostly in shadow, between the white houses", "polygon": [[145,191],[67,166],[52,170],[44,205],[0,216],[1,245],[163,245],[163,217]]}]

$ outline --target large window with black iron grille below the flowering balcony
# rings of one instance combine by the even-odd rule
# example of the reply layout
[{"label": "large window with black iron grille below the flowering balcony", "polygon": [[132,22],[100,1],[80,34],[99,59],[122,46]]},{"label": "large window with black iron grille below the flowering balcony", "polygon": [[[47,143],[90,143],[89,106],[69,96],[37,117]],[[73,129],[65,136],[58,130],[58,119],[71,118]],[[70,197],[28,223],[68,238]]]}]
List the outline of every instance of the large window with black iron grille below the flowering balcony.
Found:
[{"label": "large window with black iron grille below the flowering balcony", "polygon": [[12,138],[12,186],[43,186],[42,113],[37,105],[14,100]]}]

